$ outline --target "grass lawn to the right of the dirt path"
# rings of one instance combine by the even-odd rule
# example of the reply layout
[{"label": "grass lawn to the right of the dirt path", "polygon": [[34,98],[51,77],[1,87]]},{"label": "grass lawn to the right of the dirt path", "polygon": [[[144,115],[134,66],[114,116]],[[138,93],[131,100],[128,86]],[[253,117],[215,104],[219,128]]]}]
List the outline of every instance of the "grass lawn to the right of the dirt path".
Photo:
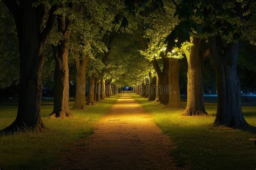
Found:
[{"label": "grass lawn to the right of the dirt path", "polygon": [[[250,138],[255,134],[225,127],[213,127],[217,104],[206,103],[208,116],[184,117],[183,110],[170,111],[164,105],[145,98],[140,103],[161,131],[170,136],[170,151],[180,168],[190,169],[255,169],[256,147]],[[186,103],[183,103],[184,107]],[[256,126],[256,107],[242,107],[246,121]]]}]

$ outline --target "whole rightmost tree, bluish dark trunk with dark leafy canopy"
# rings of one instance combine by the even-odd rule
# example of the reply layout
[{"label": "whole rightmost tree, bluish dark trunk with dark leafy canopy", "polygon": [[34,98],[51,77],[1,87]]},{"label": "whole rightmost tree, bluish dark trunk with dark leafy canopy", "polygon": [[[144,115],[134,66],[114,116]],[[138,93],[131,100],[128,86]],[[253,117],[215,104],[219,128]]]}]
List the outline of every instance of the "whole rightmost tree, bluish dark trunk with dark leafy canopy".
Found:
[{"label": "whole rightmost tree, bluish dark trunk with dark leafy canopy", "polygon": [[[181,20],[169,35],[187,39],[196,32],[207,39],[209,55],[215,68],[218,90],[215,126],[224,125],[245,130],[254,130],[242,115],[240,83],[237,77],[239,41],[242,30],[247,27],[253,2],[243,1],[182,1],[176,4],[176,13]],[[186,28],[184,27],[186,25]],[[181,41],[182,42],[182,41]],[[173,44],[172,40],[169,44]]]}]

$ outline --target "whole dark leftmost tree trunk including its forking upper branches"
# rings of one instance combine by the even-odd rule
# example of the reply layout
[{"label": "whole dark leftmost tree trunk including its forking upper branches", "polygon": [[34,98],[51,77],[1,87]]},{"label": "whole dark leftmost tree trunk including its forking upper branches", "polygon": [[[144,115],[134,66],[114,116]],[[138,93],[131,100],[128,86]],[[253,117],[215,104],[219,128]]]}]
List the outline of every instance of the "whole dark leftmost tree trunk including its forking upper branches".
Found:
[{"label": "whole dark leftmost tree trunk including its forking upper branches", "polygon": [[3,0],[15,19],[19,42],[19,99],[18,112],[15,121],[0,131],[0,134],[34,130],[42,131],[44,124],[41,120],[42,100],[42,67],[43,47],[53,25],[51,8],[45,27],[43,19],[46,11],[44,5],[33,7],[33,1]]}]

